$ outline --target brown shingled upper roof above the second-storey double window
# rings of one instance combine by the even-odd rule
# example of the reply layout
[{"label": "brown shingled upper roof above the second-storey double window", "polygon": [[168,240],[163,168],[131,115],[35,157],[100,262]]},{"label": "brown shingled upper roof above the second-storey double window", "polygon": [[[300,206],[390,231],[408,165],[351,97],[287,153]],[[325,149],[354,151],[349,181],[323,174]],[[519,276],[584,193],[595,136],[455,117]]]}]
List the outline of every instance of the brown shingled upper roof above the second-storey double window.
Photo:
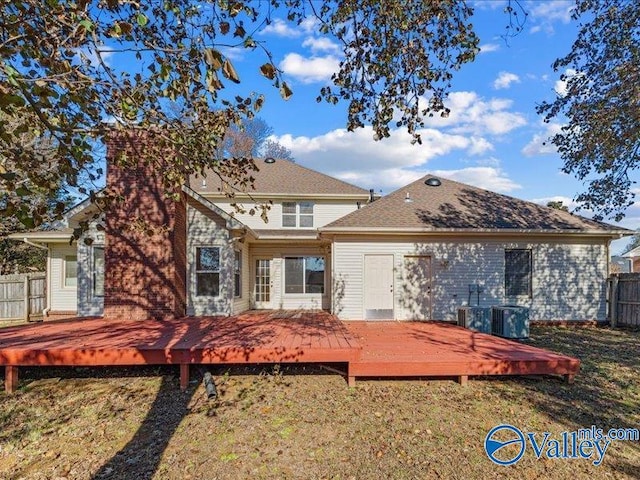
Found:
[{"label": "brown shingled upper roof above the second-storey double window", "polygon": [[[250,172],[255,178],[255,190],[250,195],[301,195],[369,198],[369,191],[343,182],[324,173],[311,170],[290,160],[266,163],[255,159],[258,171]],[[201,195],[222,195],[222,182],[211,172],[207,178],[192,176],[191,188]],[[243,189],[240,189],[241,191]]]}]

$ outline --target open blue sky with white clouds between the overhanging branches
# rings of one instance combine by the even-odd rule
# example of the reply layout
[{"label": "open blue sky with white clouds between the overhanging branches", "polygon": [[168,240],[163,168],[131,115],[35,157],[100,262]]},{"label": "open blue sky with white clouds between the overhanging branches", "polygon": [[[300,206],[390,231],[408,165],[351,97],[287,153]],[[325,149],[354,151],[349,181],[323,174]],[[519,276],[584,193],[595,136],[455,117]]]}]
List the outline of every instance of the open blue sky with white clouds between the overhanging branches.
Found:
[{"label": "open blue sky with white clouds between the overhanging branches", "polygon": [[[535,106],[562,93],[560,75],[565,72],[554,72],[551,64],[569,52],[576,37],[574,2],[521,3],[529,16],[523,31],[507,43],[502,38],[508,23],[506,0],[473,2],[481,52],[457,72],[448,101],[451,114],[428,123],[422,145],[411,145],[405,131],[378,142],[370,128],[349,133],[345,104],[316,103],[341,49],[319,34],[313,21],[296,26],[276,15],[257,34],[294,91],[288,101],[257,73],[264,63],[260,55],[243,49],[223,53],[240,75],[242,93],[265,94],[259,115],[300,164],[383,193],[435,173],[539,203],[563,200],[573,209],[583,185],[560,171],[562,161],[544,144],[560,124],[544,124]],[[640,227],[640,205],[629,208],[620,225]],[[614,252],[626,243],[616,242]]]}]

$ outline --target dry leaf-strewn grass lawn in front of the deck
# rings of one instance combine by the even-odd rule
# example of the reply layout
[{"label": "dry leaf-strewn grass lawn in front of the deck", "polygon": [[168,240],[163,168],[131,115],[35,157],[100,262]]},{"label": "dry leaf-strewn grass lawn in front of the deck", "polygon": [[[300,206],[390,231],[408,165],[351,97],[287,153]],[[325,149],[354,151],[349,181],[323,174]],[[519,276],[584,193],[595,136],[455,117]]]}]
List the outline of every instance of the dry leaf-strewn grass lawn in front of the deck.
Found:
[{"label": "dry leaf-strewn grass lawn in front of the deck", "polygon": [[[536,459],[493,464],[494,426],[561,432],[640,428],[640,332],[532,330],[533,345],[582,360],[575,384],[552,377],[358,381],[316,367],[32,369],[0,394],[0,478],[403,479],[639,478],[640,441],[613,442],[600,466]],[[255,374],[259,373],[259,374]],[[310,375],[313,373],[313,375]],[[96,376],[100,378],[96,378]]]}]

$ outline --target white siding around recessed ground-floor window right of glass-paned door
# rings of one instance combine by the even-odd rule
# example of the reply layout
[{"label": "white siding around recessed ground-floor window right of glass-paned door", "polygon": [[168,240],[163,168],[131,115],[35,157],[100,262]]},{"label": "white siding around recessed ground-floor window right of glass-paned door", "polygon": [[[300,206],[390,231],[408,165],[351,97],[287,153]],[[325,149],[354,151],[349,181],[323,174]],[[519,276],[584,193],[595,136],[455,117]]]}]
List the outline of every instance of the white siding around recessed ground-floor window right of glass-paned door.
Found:
[{"label": "white siding around recessed ground-floor window right of glass-paned door", "polygon": [[[319,256],[325,258],[325,293],[324,294],[285,294],[284,293],[284,258],[295,256]],[[331,259],[325,249],[321,246],[258,246],[251,249],[251,262],[255,263],[255,258],[271,258],[271,308],[282,310],[295,309],[328,309],[331,305]],[[253,270],[252,270],[253,271]],[[251,285],[253,287],[253,279]]]}]

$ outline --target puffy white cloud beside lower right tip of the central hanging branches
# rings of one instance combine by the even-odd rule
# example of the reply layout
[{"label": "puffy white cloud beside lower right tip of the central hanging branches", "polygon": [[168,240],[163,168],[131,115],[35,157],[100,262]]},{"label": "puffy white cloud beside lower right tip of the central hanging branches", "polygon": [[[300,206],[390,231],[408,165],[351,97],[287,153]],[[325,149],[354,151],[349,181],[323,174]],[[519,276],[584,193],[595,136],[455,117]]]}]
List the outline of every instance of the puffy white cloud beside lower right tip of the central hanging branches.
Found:
[{"label": "puffy white cloud beside lower right tip of the central hanging branches", "polygon": [[[426,102],[423,99],[420,106],[424,107]],[[523,115],[509,111],[513,101],[505,98],[486,100],[476,92],[452,92],[445,105],[451,110],[449,116],[427,118],[427,126],[483,136],[504,135],[527,124]]]}]

